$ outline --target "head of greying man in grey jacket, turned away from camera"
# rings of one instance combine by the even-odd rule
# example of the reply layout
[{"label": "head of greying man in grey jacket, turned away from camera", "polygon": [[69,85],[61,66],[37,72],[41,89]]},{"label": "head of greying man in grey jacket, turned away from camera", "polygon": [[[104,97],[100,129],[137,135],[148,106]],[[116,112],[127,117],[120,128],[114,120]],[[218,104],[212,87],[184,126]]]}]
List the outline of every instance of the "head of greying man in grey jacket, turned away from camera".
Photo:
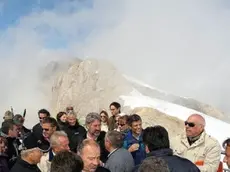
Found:
[{"label": "head of greying man in grey jacket, turned away from camera", "polygon": [[111,152],[114,149],[121,148],[124,143],[124,136],[118,131],[108,131],[105,136],[105,148]]}]

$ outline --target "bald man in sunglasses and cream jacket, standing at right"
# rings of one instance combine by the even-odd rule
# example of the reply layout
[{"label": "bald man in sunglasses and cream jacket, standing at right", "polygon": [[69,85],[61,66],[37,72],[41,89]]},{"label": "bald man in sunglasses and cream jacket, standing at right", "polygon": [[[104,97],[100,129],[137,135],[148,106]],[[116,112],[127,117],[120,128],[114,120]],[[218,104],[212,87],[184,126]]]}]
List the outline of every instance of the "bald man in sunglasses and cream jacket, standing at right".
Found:
[{"label": "bald man in sunglasses and cream jacket, standing at right", "polygon": [[221,146],[206,134],[205,119],[199,114],[189,116],[185,121],[185,132],[171,140],[171,148],[175,155],[196,164],[201,172],[216,172],[219,167]]}]

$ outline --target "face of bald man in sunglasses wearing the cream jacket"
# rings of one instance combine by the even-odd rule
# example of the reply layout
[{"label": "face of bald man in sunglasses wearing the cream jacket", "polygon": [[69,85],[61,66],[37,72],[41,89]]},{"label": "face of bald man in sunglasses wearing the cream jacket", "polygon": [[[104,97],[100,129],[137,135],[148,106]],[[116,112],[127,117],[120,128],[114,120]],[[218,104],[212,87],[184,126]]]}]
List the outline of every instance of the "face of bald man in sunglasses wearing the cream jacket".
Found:
[{"label": "face of bald man in sunglasses wearing the cream jacket", "polygon": [[204,127],[199,123],[196,117],[191,116],[185,121],[185,131],[187,137],[196,137],[202,131]]}]

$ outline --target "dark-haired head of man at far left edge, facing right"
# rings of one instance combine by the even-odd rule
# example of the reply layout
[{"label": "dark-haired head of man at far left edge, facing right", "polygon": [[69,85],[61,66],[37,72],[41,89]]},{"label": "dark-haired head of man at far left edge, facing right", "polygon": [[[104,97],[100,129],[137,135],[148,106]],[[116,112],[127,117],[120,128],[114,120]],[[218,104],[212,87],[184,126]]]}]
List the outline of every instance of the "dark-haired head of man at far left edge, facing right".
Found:
[{"label": "dark-haired head of man at far left edge, facing right", "polygon": [[1,131],[8,137],[18,137],[19,130],[13,120],[6,120],[2,123]]}]

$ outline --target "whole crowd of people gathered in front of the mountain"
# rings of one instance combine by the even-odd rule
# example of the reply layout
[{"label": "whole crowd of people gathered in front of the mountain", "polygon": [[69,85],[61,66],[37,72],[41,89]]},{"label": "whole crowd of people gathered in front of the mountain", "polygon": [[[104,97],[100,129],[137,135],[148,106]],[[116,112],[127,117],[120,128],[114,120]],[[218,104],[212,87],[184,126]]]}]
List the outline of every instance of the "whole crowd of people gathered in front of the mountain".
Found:
[{"label": "whole crowd of people gathered in front of the mountain", "polygon": [[[121,113],[118,102],[87,114],[80,124],[73,107],[51,117],[38,111],[30,130],[25,114],[7,111],[1,126],[0,172],[222,172],[221,145],[191,114],[185,132],[170,138],[161,125],[142,128],[138,114]],[[222,145],[230,167],[230,139]]]}]

